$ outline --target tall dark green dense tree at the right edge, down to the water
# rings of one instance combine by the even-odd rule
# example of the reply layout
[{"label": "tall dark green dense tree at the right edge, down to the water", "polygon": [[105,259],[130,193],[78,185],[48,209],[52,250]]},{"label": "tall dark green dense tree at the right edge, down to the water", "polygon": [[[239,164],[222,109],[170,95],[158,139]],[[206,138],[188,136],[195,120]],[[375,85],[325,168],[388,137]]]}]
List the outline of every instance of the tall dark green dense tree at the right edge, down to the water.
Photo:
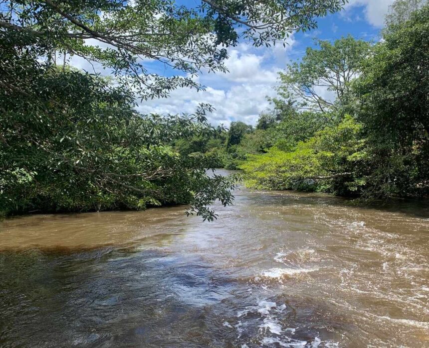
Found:
[{"label": "tall dark green dense tree at the right edge, down to the water", "polygon": [[354,83],[365,125],[371,195],[429,192],[429,5],[392,22]]}]

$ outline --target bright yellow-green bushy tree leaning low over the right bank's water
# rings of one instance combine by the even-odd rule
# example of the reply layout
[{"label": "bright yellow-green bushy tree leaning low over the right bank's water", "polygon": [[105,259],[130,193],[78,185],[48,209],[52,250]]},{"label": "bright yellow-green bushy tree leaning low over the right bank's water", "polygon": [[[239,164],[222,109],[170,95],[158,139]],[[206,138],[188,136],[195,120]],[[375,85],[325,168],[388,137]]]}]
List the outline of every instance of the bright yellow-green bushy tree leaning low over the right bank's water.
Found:
[{"label": "bright yellow-green bushy tree leaning low over the right bank's water", "polygon": [[347,115],[339,124],[300,141],[292,151],[272,147],[266,154],[250,155],[240,168],[247,183],[257,188],[350,194],[363,184],[355,176],[365,158],[361,132],[362,124]]}]

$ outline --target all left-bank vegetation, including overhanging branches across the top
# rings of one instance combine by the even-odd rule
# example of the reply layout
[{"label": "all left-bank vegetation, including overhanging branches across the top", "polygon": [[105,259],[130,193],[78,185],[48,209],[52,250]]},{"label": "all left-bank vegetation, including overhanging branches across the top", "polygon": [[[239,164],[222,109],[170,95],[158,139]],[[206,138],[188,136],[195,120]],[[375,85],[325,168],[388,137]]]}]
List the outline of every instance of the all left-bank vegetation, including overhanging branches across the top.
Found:
[{"label": "all left-bank vegetation, including overhanging branches across the top", "polygon": [[[224,136],[207,123],[212,107],[140,115],[136,101],[202,90],[195,77],[224,72],[225,47],[241,38],[255,46],[284,43],[344,2],[1,0],[0,212],[188,203],[189,213],[212,220],[208,206],[230,204],[234,188],[234,178],[206,174],[216,154],[192,149],[205,139],[212,139],[208,150],[216,148]],[[75,70],[72,56],[110,75]],[[148,62],[171,74],[148,70]],[[232,130],[228,146],[241,137]]]}]

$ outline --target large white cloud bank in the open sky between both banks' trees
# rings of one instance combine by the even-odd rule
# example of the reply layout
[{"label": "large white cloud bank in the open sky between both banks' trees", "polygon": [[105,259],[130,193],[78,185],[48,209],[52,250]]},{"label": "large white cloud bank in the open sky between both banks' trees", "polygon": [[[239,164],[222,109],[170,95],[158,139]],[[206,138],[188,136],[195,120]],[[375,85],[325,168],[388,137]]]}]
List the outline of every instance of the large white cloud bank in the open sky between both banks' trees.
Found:
[{"label": "large white cloud bank in the open sky between both banks' trees", "polygon": [[288,43],[286,47],[276,45],[268,49],[240,44],[228,52],[225,65],[229,73],[200,76],[206,91],[178,89],[169,98],[144,101],[138,109],[144,114],[193,113],[198,104],[204,102],[216,109],[208,116],[213,125],[229,125],[236,120],[255,124],[259,114],[269,107],[266,97],[276,94],[273,87],[277,72],[289,60],[288,51],[295,43],[292,36]]}]

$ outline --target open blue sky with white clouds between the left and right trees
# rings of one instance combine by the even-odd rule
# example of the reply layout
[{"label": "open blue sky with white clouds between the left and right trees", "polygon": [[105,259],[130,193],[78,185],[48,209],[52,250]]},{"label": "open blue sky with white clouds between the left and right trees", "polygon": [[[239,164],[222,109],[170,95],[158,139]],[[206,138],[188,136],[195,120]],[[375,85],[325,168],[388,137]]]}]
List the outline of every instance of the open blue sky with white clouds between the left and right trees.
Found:
[{"label": "open blue sky with white clouds between the left and right trees", "polygon": [[[393,1],[350,0],[342,11],[319,18],[317,29],[292,35],[286,47],[255,48],[245,43],[230,47],[229,59],[225,63],[229,73],[203,73],[199,76],[205,91],[178,89],[169,98],[143,101],[138,110],[143,114],[191,114],[204,102],[216,109],[208,115],[214,126],[228,126],[231,121],[256,124],[258,115],[270,108],[267,97],[275,96],[278,72],[301,58],[306,47],[314,45],[314,39],[335,40],[351,34],[357,39],[378,41],[384,16]],[[78,58],[72,64],[86,68]],[[155,65],[151,68],[163,74],[163,67]]]}]

